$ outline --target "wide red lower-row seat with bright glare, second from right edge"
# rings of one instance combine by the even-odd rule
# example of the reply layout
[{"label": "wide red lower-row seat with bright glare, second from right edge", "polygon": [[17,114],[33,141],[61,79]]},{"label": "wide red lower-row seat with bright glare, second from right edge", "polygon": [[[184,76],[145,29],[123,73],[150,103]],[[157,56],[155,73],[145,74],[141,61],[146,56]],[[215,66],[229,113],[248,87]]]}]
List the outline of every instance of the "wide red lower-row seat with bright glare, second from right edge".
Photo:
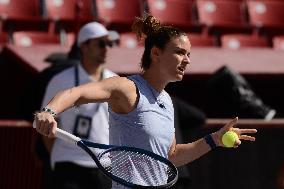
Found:
[{"label": "wide red lower-row seat with bright glare, second from right edge", "polygon": [[266,38],[256,35],[227,34],[221,37],[222,48],[240,49],[243,47],[269,47]]}]

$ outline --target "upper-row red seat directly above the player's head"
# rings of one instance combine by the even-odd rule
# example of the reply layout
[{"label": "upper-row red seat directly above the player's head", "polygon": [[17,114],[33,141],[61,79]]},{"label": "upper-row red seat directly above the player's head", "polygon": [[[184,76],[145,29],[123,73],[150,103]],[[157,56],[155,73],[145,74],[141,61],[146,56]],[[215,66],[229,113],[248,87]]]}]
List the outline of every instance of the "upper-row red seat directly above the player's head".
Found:
[{"label": "upper-row red seat directly above the player's head", "polygon": [[161,22],[173,24],[184,31],[201,31],[193,6],[190,0],[148,0],[150,14]]}]

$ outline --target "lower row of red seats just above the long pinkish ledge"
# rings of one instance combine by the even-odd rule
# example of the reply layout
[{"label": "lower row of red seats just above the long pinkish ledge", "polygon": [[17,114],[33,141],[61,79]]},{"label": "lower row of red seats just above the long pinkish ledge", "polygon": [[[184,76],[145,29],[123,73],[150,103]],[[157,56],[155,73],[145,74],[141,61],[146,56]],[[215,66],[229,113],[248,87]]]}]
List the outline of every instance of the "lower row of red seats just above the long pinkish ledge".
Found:
[{"label": "lower row of red seats just above the long pinkish ledge", "polygon": [[[188,34],[193,47],[217,47],[217,39],[213,36]],[[8,42],[7,34],[0,37],[1,43],[11,43],[16,46],[28,47],[34,44],[58,44],[71,46],[75,40],[75,34],[69,33],[64,37],[45,32],[14,32],[12,42]],[[226,34],[220,38],[221,47],[227,49],[239,49],[243,47],[272,47],[275,50],[284,50],[284,36],[275,36],[272,41],[257,35]],[[272,43],[272,44],[271,44]],[[119,47],[136,48],[143,44],[137,41],[134,33],[121,33]]]}]

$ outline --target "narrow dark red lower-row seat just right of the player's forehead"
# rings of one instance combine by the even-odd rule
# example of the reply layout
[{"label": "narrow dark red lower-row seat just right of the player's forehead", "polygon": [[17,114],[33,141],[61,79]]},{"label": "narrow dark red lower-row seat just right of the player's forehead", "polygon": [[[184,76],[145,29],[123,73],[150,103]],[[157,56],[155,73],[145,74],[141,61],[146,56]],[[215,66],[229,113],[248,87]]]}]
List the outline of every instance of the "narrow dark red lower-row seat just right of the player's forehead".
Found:
[{"label": "narrow dark red lower-row seat just right of the player's forehead", "polygon": [[188,34],[188,38],[191,46],[194,47],[212,47],[217,46],[216,40],[213,36],[207,36],[202,34]]}]

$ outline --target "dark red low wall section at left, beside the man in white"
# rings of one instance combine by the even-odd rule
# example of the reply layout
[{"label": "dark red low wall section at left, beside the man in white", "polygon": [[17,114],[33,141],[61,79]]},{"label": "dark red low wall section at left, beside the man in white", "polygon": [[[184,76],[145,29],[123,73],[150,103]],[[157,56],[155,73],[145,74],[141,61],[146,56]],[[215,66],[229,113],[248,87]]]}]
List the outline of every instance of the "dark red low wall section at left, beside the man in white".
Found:
[{"label": "dark red low wall section at left, beside the man in white", "polygon": [[36,132],[25,121],[0,121],[0,188],[42,188],[42,164],[35,156]]}]

